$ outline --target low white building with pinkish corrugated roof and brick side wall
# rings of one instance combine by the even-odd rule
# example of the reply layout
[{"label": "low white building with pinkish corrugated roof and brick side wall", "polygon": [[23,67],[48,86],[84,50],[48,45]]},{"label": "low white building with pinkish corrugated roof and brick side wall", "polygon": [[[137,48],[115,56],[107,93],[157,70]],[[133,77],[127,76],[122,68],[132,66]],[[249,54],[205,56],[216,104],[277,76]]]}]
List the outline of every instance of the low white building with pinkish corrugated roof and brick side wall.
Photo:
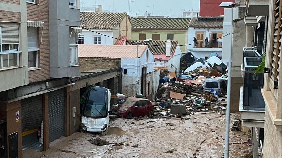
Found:
[{"label": "low white building with pinkish corrugated roof and brick side wall", "polygon": [[[159,71],[154,71],[154,56],[148,46],[140,45],[79,45],[81,67],[121,67],[122,93],[127,97],[141,93],[152,99],[159,83]],[[119,64],[119,65],[118,65]]]}]

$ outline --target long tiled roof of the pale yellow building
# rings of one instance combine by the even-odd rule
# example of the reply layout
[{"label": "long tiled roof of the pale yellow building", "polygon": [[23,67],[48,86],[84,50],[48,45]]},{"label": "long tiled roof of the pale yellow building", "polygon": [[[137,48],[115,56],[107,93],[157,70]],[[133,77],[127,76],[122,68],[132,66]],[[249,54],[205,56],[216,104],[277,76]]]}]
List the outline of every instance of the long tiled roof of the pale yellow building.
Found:
[{"label": "long tiled roof of the pale yellow building", "polygon": [[190,18],[130,18],[132,29],[187,30]]}]

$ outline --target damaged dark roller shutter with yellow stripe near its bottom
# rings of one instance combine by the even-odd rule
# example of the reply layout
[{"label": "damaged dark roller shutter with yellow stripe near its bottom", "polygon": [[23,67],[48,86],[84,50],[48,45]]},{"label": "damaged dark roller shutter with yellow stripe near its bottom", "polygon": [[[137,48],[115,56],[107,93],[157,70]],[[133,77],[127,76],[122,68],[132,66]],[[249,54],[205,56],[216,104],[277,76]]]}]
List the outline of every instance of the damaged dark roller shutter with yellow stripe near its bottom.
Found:
[{"label": "damaged dark roller shutter with yellow stripe near its bottom", "polygon": [[38,144],[37,130],[43,120],[42,96],[21,100],[22,149]]}]

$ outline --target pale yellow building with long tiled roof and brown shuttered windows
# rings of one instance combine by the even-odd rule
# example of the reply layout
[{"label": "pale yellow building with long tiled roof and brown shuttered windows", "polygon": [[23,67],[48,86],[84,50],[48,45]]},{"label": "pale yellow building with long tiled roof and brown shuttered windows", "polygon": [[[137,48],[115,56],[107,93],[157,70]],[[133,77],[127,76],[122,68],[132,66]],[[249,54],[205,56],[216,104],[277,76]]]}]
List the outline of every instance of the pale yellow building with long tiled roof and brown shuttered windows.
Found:
[{"label": "pale yellow building with long tiled roof and brown shuttered windows", "polygon": [[131,18],[131,40],[178,41],[182,53],[187,52],[190,18]]}]

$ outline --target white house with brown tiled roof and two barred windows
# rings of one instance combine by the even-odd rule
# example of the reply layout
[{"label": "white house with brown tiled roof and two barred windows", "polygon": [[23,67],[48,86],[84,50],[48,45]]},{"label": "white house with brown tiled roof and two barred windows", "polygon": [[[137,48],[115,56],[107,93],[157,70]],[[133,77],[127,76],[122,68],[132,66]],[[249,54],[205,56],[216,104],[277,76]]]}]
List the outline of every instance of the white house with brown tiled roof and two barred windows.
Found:
[{"label": "white house with brown tiled roof and two barred windows", "polygon": [[79,44],[113,45],[117,40],[112,37],[131,37],[131,22],[126,13],[81,12],[80,19],[83,29]]}]

